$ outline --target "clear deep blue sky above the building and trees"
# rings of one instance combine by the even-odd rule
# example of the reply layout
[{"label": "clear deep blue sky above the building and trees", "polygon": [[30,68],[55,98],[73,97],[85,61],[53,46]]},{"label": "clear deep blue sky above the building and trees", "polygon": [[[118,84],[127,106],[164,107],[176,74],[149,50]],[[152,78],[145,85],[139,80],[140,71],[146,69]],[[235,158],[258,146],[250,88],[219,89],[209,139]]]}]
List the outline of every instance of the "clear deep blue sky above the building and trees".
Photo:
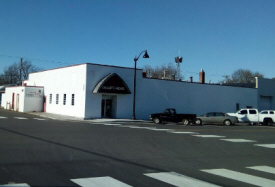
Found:
[{"label": "clear deep blue sky above the building and trees", "polygon": [[239,68],[275,77],[274,0],[0,0],[0,73],[20,57],[51,69],[134,67],[183,57],[185,80]]}]

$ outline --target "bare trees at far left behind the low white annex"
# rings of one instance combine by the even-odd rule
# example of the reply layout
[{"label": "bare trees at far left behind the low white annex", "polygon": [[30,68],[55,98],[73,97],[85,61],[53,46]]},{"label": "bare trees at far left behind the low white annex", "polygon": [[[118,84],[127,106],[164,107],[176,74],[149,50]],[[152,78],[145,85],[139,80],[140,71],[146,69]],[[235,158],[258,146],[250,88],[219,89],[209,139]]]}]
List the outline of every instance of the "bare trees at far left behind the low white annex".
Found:
[{"label": "bare trees at far left behind the low white annex", "polygon": [[[4,73],[0,75],[1,84],[20,84],[21,80],[26,80],[29,73],[41,71],[42,69],[34,66],[30,61],[22,61],[13,63],[12,65],[4,68]],[[21,71],[21,73],[20,73]],[[20,77],[21,74],[21,77]]]}]

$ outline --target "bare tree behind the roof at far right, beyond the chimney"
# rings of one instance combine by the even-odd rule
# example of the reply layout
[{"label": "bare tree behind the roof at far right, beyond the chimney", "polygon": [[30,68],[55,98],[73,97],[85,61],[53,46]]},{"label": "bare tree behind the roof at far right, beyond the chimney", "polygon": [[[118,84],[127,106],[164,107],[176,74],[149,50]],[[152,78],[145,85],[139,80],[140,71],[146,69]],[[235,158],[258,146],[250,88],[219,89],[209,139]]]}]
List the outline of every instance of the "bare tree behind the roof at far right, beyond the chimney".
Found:
[{"label": "bare tree behind the roof at far right, beyond the chimney", "polygon": [[222,82],[226,83],[254,83],[255,77],[264,78],[264,75],[259,72],[252,72],[246,69],[238,69],[232,75],[224,76]]}]

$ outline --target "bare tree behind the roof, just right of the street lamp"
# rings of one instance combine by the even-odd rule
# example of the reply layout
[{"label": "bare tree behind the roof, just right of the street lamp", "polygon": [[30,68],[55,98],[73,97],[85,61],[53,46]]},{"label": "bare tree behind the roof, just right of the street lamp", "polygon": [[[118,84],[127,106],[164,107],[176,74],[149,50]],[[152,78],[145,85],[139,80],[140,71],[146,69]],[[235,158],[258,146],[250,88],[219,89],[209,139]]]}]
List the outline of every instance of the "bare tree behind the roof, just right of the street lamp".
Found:
[{"label": "bare tree behind the roof, just right of the street lamp", "polygon": [[[161,66],[152,67],[150,65],[145,65],[143,67],[143,71],[146,72],[146,76],[148,78],[155,78],[155,79],[173,79],[177,74],[177,67],[174,66],[172,63],[163,64]],[[183,77],[180,75],[179,79]]]}]

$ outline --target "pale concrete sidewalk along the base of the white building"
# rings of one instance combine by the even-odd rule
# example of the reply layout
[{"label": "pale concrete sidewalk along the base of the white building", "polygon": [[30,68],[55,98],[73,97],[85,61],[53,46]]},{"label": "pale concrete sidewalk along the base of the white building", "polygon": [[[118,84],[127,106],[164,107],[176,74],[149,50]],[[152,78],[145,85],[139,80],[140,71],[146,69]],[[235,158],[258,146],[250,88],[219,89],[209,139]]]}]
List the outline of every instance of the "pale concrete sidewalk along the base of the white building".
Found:
[{"label": "pale concrete sidewalk along the base of the white building", "polygon": [[27,112],[28,114],[40,116],[43,118],[50,118],[54,120],[61,120],[61,121],[84,121],[84,122],[91,122],[91,123],[125,123],[125,122],[149,122],[146,120],[133,120],[133,119],[112,119],[112,118],[98,118],[98,119],[83,119],[73,116],[65,116],[60,114],[51,114],[47,112]]}]

